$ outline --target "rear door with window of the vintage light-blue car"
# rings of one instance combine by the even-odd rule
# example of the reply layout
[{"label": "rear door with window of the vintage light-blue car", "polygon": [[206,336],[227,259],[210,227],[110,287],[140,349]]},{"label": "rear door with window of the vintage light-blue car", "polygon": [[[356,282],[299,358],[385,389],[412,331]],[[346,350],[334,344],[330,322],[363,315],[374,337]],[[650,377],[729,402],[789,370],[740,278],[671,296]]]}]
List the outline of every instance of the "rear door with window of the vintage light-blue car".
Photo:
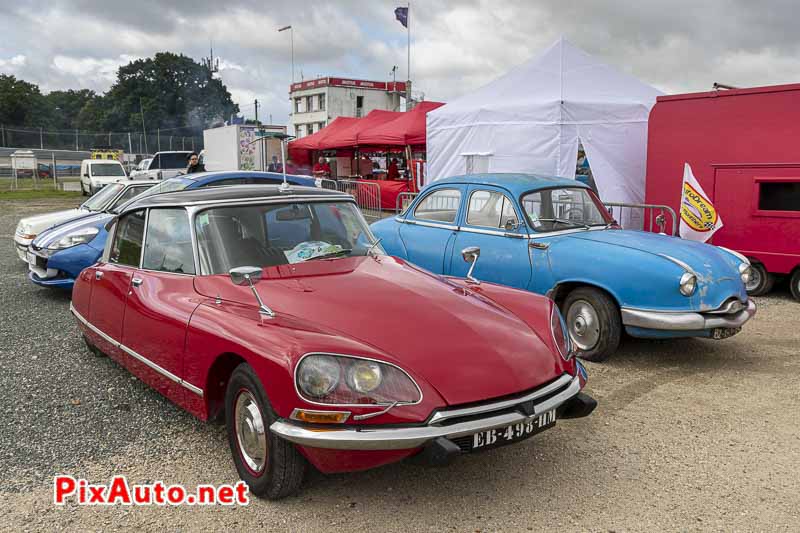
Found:
[{"label": "rear door with window of the vintage light-blue car", "polygon": [[410,262],[436,274],[447,273],[465,188],[463,185],[433,188],[411,207],[400,224],[400,239]]}]

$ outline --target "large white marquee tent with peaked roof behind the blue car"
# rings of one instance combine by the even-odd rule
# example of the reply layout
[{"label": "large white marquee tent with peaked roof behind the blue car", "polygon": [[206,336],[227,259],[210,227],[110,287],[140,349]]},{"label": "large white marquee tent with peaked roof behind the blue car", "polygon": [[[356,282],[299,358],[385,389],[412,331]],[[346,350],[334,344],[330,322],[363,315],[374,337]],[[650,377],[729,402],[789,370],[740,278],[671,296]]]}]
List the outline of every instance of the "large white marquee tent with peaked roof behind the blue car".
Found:
[{"label": "large white marquee tent with peaked roof behind the blue car", "polygon": [[561,38],[540,57],[428,113],[427,175],[574,178],[580,140],[600,197],[641,203],[647,117],[660,94]]}]

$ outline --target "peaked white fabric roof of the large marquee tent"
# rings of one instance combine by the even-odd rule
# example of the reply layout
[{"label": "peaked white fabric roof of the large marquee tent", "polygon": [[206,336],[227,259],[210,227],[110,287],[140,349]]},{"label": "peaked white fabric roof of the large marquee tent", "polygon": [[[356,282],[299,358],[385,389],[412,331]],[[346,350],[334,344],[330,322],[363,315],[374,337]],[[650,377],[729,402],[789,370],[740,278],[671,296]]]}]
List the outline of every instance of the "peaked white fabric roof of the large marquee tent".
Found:
[{"label": "peaked white fabric roof of the large marquee tent", "polygon": [[543,124],[646,121],[660,94],[562,37],[539,57],[432,111],[428,124],[453,127],[487,120]]}]

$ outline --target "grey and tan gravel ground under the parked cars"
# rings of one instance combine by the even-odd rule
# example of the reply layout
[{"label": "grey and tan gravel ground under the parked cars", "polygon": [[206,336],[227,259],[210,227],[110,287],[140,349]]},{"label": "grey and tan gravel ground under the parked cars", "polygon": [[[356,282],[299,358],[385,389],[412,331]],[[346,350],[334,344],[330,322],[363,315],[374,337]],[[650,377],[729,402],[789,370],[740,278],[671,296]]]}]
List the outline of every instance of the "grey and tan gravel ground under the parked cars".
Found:
[{"label": "grey and tan gravel ground under the parked cars", "polygon": [[83,346],[66,296],[28,282],[0,209],[0,529],[797,531],[800,304],[785,289],[725,341],[628,340],[588,364],[587,419],[434,469],[312,473],[247,507],[56,507],[52,476],[234,483],[224,428]]}]

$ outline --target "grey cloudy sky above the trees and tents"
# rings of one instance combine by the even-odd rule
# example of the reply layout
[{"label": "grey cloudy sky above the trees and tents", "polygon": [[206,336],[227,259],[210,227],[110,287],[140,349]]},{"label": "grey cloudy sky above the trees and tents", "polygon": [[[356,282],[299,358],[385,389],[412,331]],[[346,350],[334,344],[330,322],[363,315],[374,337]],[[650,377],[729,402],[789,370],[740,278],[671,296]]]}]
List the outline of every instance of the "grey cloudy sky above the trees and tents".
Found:
[{"label": "grey cloudy sky above the trees and tents", "polygon": [[[0,73],[44,91],[103,92],[116,69],[158,51],[195,59],[214,43],[223,81],[247,116],[284,123],[290,36],[295,73],[406,76],[395,1],[0,0]],[[417,0],[411,77],[426,99],[477,88],[565,36],[667,93],[800,82],[796,0]]]}]

